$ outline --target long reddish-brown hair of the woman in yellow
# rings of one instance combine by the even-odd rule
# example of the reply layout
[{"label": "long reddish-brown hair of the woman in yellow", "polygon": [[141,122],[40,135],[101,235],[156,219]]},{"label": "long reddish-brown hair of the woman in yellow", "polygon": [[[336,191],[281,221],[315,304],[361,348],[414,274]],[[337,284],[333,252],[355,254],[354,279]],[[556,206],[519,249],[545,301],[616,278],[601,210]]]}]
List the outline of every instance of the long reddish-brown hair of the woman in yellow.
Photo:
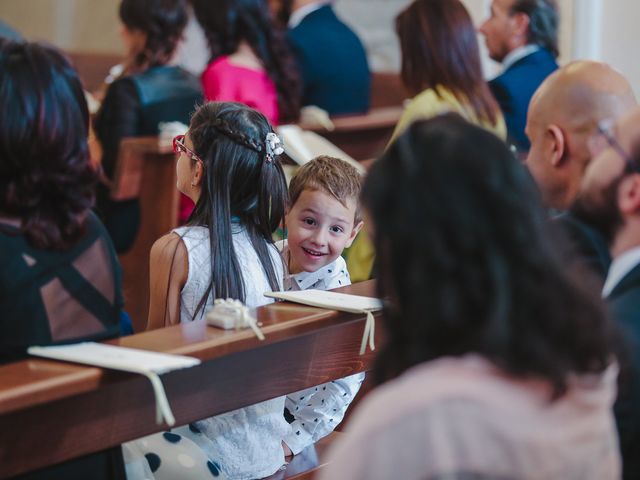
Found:
[{"label": "long reddish-brown hair of the woman in yellow", "polygon": [[402,54],[401,77],[416,95],[438,86],[478,118],[495,124],[498,105],[482,74],[476,29],[460,0],[414,0],[396,18]]}]

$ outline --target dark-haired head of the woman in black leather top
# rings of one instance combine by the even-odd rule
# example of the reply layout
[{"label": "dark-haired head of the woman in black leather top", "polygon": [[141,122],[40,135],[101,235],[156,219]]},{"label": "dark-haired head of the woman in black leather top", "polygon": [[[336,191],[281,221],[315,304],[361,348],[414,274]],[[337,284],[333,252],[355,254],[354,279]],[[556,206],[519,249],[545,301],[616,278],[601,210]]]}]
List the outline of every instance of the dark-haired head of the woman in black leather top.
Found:
[{"label": "dark-haired head of the woman in black leather top", "polygon": [[168,63],[187,25],[186,0],[122,0],[120,21],[134,71]]}]

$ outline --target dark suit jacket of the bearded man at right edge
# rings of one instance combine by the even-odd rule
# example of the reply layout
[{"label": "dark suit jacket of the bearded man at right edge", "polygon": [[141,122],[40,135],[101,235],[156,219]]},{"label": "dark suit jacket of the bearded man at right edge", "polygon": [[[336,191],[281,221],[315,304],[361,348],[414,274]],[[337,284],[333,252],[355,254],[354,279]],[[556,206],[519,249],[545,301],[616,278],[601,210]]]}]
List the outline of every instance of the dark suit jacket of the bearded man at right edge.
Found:
[{"label": "dark suit jacket of the bearded man at right edge", "polygon": [[630,347],[630,366],[620,375],[614,406],[624,479],[640,478],[640,265],[616,285],[608,297],[613,318]]}]

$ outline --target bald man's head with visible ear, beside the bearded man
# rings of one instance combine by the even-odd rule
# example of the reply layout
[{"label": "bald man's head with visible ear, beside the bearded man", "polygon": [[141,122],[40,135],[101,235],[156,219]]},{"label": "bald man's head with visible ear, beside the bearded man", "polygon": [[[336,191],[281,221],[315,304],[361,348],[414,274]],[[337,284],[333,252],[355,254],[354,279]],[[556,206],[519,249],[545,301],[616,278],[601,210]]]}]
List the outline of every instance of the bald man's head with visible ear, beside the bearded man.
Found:
[{"label": "bald man's head with visible ear, beside the bearded man", "polygon": [[529,105],[527,165],[550,207],[564,210],[574,200],[598,122],[636,105],[627,79],[600,62],[570,63],[540,85]]}]

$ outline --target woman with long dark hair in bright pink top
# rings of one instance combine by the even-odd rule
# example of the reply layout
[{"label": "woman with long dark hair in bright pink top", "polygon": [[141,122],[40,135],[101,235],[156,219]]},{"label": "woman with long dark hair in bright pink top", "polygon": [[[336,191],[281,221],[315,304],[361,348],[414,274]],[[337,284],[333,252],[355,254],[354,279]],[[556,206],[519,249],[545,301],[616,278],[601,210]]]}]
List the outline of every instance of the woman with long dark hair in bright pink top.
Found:
[{"label": "woman with long dark hair in bright pink top", "polygon": [[266,0],[192,0],[211,49],[207,100],[241,102],[269,122],[295,121],[301,86],[293,54]]}]

